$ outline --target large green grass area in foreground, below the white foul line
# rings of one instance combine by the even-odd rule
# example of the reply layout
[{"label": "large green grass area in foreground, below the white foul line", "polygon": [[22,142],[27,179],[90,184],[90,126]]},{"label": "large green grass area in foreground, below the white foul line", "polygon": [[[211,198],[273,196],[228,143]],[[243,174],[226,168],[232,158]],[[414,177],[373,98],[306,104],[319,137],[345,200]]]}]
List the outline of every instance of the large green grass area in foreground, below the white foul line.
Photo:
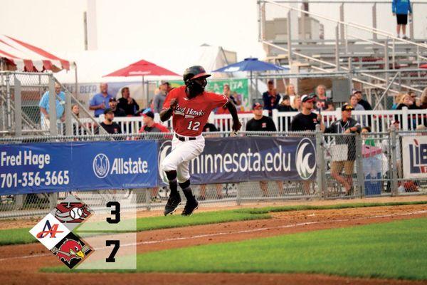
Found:
[{"label": "large green grass area in foreground, below the white foul line", "polygon": [[138,254],[137,271],[427,279],[426,244],[427,218],[408,219]]}]

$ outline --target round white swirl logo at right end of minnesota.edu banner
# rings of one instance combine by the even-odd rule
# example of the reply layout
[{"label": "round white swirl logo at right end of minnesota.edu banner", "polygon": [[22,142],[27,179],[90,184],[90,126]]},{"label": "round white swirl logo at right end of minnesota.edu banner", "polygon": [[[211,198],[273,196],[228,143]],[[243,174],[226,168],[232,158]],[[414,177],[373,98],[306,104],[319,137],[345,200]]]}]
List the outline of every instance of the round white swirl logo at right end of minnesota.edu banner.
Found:
[{"label": "round white swirl logo at right end of minnesota.edu banner", "polygon": [[316,170],[316,148],[312,140],[303,138],[297,147],[295,155],[297,172],[303,180],[307,180]]}]

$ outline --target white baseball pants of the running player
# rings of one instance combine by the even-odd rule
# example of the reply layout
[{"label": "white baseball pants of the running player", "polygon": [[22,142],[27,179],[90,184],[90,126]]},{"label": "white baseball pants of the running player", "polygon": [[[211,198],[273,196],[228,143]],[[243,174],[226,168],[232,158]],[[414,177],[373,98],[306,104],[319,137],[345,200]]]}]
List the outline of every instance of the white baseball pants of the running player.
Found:
[{"label": "white baseball pants of the running player", "polygon": [[189,137],[184,135],[180,135],[180,137],[186,138],[186,140],[184,142],[178,140],[174,134],[172,151],[167,157],[164,157],[162,170],[165,172],[176,170],[176,180],[178,183],[183,183],[190,179],[190,161],[203,152],[205,141],[203,135],[195,137],[196,140],[188,140]]}]

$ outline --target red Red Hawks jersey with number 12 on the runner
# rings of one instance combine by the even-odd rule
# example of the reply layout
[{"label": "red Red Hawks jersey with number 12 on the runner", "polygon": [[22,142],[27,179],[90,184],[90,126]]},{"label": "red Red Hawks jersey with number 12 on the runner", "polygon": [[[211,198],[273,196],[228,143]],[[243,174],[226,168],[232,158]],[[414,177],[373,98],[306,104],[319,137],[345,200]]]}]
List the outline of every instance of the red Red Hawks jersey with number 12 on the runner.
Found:
[{"label": "red Red Hawks jersey with number 12 on the runner", "polygon": [[226,95],[204,92],[189,99],[185,92],[185,86],[174,88],[164,100],[163,108],[169,108],[171,99],[176,98],[178,104],[175,107],[172,123],[174,131],[179,135],[195,137],[203,132],[203,127],[208,121],[211,111],[228,103]]}]

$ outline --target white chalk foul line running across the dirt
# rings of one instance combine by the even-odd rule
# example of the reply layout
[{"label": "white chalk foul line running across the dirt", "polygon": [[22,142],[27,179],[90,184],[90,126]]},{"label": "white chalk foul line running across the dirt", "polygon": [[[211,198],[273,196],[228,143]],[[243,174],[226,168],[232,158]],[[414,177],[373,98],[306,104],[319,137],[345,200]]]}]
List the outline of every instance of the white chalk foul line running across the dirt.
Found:
[{"label": "white chalk foul line running across the dirt", "polygon": [[[246,234],[248,232],[261,232],[261,231],[266,231],[266,230],[270,230],[270,229],[285,229],[285,228],[290,228],[290,227],[300,227],[300,226],[305,226],[305,225],[309,225],[309,224],[322,224],[322,223],[326,223],[326,222],[348,222],[348,221],[352,221],[352,220],[358,220],[358,219],[378,219],[378,218],[385,218],[385,217],[398,217],[398,216],[411,216],[413,214],[425,214],[427,213],[426,211],[416,211],[416,212],[410,212],[410,213],[404,213],[404,214],[381,214],[378,216],[371,216],[371,217],[359,217],[359,218],[354,218],[354,219],[334,219],[334,220],[327,220],[327,221],[317,221],[317,222],[303,222],[303,223],[297,223],[297,224],[286,224],[283,226],[277,226],[277,227],[261,227],[258,229],[245,229],[245,230],[240,230],[240,231],[236,231],[236,232],[217,232],[214,234],[196,234],[194,236],[191,237],[174,237],[174,238],[170,238],[170,239],[159,239],[159,240],[155,240],[155,241],[149,241],[149,242],[134,242],[132,244],[120,244],[120,247],[132,247],[132,246],[137,246],[140,244],[159,244],[162,242],[174,242],[174,241],[179,241],[179,240],[186,240],[186,239],[200,239],[200,238],[204,238],[204,237],[218,237],[218,236],[223,236],[226,234]],[[95,250],[100,250],[100,249],[107,249],[110,247],[98,247],[95,248]],[[0,259],[0,261],[9,261],[12,259],[30,259],[33,257],[48,257],[51,256],[50,253],[48,254],[32,254],[32,255],[26,255],[23,257],[9,257],[9,258],[4,258],[4,259]]]}]

